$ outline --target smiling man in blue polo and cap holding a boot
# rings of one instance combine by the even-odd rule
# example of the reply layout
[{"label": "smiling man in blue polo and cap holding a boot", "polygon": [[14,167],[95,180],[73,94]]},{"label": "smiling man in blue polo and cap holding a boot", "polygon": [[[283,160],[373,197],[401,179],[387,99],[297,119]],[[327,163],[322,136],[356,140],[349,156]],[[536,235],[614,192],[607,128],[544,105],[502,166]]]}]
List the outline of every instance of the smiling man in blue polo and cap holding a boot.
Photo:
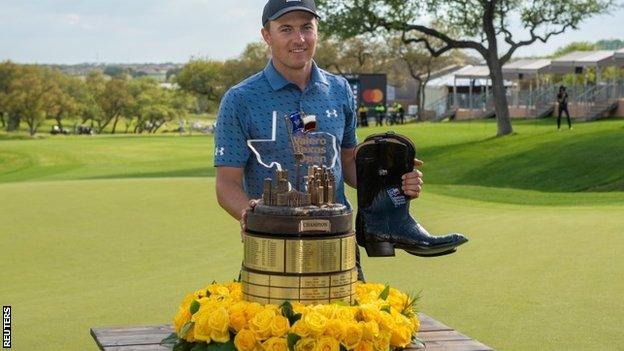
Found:
[{"label": "smiling man in blue polo and cap holding a boot", "polygon": [[[262,15],[261,34],[272,58],[263,71],[232,87],[221,101],[215,136],[217,198],[243,228],[245,211],[255,205],[253,199],[261,197],[263,180],[273,177],[275,171],[259,164],[246,142],[271,137],[273,114],[316,115],[316,130],[336,137],[340,148],[334,168],[336,199],[350,206],[344,183],[352,187],[357,184],[355,99],[346,79],[318,68],[313,61],[317,20],[314,0],[269,0]],[[274,149],[270,155],[273,161],[292,165],[292,155],[285,151],[290,150],[288,131],[281,123]],[[402,188],[407,196],[419,196],[421,177],[417,170],[404,176]]]}]

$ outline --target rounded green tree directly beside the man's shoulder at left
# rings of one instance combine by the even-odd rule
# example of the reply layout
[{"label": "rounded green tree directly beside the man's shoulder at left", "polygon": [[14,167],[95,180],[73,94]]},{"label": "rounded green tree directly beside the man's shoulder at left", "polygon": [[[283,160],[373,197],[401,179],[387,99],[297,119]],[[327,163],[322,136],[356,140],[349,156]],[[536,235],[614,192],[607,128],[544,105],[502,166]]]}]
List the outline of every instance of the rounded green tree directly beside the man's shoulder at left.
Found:
[{"label": "rounded green tree directly beside the man's shoulder at left", "polygon": [[217,103],[225,87],[221,81],[223,63],[219,61],[193,59],[175,77],[175,82],[184,91],[197,97],[197,111],[205,112],[210,102]]}]

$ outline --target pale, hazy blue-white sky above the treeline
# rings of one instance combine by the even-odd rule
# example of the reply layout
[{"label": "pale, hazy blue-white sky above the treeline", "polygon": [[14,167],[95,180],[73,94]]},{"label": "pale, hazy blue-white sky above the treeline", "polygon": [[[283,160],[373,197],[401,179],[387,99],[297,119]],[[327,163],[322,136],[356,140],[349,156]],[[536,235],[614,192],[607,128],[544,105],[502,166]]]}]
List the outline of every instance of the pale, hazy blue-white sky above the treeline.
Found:
[{"label": "pale, hazy blue-white sky above the treeline", "polygon": [[[260,41],[266,0],[0,0],[0,61],[184,63],[228,59]],[[573,41],[624,40],[624,9],[514,56],[548,55]],[[514,34],[523,34],[513,28]]]}]

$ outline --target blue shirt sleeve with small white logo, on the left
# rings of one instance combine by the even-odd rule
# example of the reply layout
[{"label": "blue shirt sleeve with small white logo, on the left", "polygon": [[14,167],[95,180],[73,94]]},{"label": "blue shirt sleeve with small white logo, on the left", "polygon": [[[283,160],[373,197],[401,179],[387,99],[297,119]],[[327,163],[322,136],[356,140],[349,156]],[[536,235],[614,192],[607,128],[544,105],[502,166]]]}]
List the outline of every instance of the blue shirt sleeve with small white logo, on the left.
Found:
[{"label": "blue shirt sleeve with small white logo, on the left", "polygon": [[215,128],[214,166],[244,167],[250,156],[247,148],[246,109],[229,90],[221,100]]}]

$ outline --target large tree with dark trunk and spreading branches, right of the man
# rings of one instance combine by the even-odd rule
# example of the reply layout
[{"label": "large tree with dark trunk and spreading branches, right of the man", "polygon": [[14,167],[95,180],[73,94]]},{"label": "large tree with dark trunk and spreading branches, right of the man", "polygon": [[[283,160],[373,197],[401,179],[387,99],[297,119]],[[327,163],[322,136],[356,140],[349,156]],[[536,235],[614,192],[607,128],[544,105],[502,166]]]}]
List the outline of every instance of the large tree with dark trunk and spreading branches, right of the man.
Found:
[{"label": "large tree with dark trunk and spreading branches, right of the man", "polygon": [[[502,66],[514,52],[536,41],[546,42],[583,19],[614,7],[614,0],[319,0],[324,28],[341,37],[380,30],[400,33],[406,43],[423,44],[432,56],[452,49],[475,50],[485,59],[492,79],[497,135],[513,132]],[[453,33],[424,23],[445,23]],[[510,23],[519,20],[528,37],[514,38]],[[508,48],[501,52],[499,40]],[[437,44],[437,43],[440,44]]]}]

